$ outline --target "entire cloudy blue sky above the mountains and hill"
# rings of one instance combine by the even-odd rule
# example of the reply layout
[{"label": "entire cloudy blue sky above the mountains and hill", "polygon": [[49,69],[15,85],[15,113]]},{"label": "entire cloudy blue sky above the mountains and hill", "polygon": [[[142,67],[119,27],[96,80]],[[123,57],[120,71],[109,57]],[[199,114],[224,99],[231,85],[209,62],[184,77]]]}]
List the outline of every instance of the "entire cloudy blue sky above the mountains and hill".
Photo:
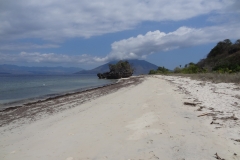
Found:
[{"label": "entire cloudy blue sky above the mountains and hill", "polygon": [[0,0],[0,64],[174,69],[240,39],[239,0]]}]

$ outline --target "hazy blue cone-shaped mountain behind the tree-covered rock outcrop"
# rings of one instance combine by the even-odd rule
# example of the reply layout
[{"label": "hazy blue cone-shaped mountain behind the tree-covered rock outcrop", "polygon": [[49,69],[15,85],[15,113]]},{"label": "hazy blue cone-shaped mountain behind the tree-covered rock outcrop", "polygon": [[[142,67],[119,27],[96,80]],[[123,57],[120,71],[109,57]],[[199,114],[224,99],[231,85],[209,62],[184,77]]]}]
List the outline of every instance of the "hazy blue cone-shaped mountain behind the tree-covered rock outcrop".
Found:
[{"label": "hazy blue cone-shaped mountain behind the tree-covered rock outcrop", "polygon": [[[145,60],[127,60],[131,66],[134,69],[134,74],[135,75],[139,75],[139,74],[148,74],[150,70],[152,69],[157,69],[158,66],[156,66],[155,64],[149,63]],[[109,71],[109,64],[116,64],[118,61],[111,61],[109,63],[106,63],[104,65],[101,65],[97,68],[94,68],[92,70],[82,70],[77,72],[76,74],[97,74],[97,73],[104,73],[104,72],[108,72]]]}]

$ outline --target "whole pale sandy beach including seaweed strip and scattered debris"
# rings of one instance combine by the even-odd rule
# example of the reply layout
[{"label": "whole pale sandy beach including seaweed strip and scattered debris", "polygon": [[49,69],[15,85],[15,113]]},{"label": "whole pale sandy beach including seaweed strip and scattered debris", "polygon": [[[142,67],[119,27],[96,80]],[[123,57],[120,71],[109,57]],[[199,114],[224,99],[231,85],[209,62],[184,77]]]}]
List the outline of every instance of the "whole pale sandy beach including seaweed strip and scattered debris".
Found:
[{"label": "whole pale sandy beach including seaweed strip and scattered debris", "polygon": [[240,86],[142,76],[0,112],[0,159],[240,160]]}]

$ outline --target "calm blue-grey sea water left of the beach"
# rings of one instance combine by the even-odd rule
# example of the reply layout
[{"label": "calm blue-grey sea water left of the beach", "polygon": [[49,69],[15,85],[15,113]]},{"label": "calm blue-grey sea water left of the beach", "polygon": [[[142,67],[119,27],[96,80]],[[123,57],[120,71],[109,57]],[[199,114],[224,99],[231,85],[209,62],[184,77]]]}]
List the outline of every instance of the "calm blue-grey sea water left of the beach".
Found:
[{"label": "calm blue-grey sea water left of the beach", "polygon": [[0,75],[0,110],[115,82],[96,75]]}]

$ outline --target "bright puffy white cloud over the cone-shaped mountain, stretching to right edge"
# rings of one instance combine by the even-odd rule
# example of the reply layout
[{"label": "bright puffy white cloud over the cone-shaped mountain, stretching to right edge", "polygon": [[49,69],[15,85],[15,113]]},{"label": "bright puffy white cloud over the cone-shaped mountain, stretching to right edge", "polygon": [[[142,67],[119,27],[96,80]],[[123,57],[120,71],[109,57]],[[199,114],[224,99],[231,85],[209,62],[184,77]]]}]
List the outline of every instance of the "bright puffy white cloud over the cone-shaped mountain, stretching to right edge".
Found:
[{"label": "bright puffy white cloud over the cone-shaped mountain, stretching to right edge", "polygon": [[150,54],[177,48],[207,44],[230,38],[240,38],[240,24],[227,26],[212,26],[205,28],[180,27],[174,32],[164,33],[159,30],[149,31],[145,35],[138,35],[112,43],[112,51],[98,61],[113,59],[145,58]]}]

